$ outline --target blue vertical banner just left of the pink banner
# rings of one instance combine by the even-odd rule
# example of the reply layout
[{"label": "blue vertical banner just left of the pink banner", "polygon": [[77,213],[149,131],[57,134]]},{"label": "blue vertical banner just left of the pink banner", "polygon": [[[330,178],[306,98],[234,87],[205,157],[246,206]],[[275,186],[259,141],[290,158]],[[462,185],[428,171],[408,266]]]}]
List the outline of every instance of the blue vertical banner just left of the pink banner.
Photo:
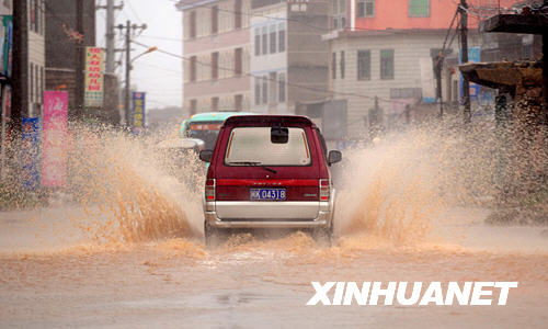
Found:
[{"label": "blue vertical banner just left of the pink banner", "polygon": [[21,139],[23,141],[21,154],[21,179],[27,190],[36,190],[39,182],[38,173],[38,132],[37,117],[23,117]]}]

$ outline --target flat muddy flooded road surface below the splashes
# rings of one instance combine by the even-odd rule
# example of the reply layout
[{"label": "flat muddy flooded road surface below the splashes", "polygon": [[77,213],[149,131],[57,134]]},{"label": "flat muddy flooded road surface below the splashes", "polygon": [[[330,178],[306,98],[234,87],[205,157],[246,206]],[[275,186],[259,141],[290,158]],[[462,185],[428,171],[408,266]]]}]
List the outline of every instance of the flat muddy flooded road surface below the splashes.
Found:
[{"label": "flat muddy flooded road surface below the splashes", "polygon": [[[61,213],[70,212],[44,209],[35,219]],[[466,216],[445,226],[454,238],[439,235],[413,245],[358,234],[321,248],[296,232],[271,240],[239,236],[215,250],[199,238],[83,243],[77,229],[72,240],[62,241],[55,229],[45,229],[57,227],[67,236],[70,225],[62,227],[60,219],[41,226],[21,220],[36,212],[1,213],[0,327],[545,328],[546,228],[493,228],[482,224],[484,212],[453,213]],[[506,306],[306,306],[311,281],[520,286]]]}]

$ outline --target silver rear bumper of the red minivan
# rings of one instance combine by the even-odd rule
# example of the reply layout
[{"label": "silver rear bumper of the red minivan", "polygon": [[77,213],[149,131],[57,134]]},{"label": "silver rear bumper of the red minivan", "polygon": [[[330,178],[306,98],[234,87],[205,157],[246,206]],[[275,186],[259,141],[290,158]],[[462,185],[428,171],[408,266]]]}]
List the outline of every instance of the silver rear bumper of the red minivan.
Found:
[{"label": "silver rear bumper of the red minivan", "polygon": [[[249,204],[248,204],[249,203]],[[244,214],[242,217],[243,218],[219,218],[217,215],[217,212],[215,212],[215,206],[213,206],[213,203],[209,205],[206,204],[206,209],[204,212],[205,220],[206,223],[212,226],[212,227],[217,227],[217,228],[329,228],[331,227],[331,220],[332,220],[332,209],[333,205],[331,202],[315,202],[316,207],[318,208],[319,204],[319,212],[317,212],[316,217],[313,218],[290,218],[287,216],[284,216],[284,218],[267,218],[264,217],[264,213],[261,216],[261,218],[252,218],[249,216],[249,213],[247,213],[244,209],[247,206],[251,206],[253,208],[256,207],[256,202],[235,202],[233,206],[241,207],[243,211],[242,213]],[[282,206],[282,204],[279,204]],[[288,206],[288,204],[284,205],[288,213],[292,213],[288,208],[292,208],[293,206],[298,207],[298,206],[304,206],[302,203],[293,203],[292,206]],[[269,208],[269,206],[265,204],[265,211]],[[267,214],[267,213],[266,213]]]}]

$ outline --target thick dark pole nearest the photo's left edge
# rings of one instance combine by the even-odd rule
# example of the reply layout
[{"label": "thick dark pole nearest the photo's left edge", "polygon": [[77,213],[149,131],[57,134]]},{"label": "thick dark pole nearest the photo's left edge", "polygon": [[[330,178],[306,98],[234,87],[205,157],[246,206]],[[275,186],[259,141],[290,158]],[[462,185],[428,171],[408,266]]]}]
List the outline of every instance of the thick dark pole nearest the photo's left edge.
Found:
[{"label": "thick dark pole nearest the photo's left edge", "polygon": [[11,127],[21,133],[21,118],[28,111],[28,3],[13,1],[13,102]]}]

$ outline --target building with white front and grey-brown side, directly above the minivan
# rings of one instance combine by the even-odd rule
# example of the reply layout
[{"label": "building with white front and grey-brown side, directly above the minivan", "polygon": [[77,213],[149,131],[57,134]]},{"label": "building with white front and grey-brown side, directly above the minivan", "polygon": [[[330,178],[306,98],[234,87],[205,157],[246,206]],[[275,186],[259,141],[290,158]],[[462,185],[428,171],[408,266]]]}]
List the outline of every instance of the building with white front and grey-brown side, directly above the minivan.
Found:
[{"label": "building with white front and grey-brown side, directly above the minivan", "polygon": [[329,2],[251,1],[253,111],[295,113],[330,98]]}]

